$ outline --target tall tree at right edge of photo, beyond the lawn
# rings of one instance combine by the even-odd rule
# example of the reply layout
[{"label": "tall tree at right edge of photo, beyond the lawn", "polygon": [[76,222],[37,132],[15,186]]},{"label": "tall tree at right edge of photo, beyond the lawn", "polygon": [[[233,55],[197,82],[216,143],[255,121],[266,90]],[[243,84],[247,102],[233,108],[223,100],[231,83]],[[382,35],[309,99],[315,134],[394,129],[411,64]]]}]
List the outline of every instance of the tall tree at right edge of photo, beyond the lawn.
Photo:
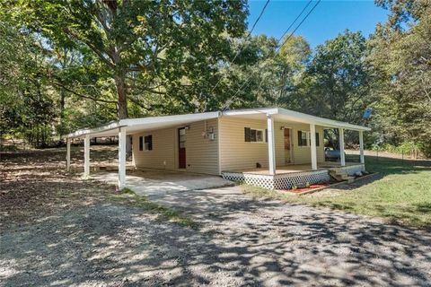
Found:
[{"label": "tall tree at right edge of photo, beyond the lawn", "polygon": [[[375,127],[392,144],[414,143],[431,156],[431,2],[379,1],[391,10],[370,39]],[[404,27],[404,28],[403,28]]]}]

